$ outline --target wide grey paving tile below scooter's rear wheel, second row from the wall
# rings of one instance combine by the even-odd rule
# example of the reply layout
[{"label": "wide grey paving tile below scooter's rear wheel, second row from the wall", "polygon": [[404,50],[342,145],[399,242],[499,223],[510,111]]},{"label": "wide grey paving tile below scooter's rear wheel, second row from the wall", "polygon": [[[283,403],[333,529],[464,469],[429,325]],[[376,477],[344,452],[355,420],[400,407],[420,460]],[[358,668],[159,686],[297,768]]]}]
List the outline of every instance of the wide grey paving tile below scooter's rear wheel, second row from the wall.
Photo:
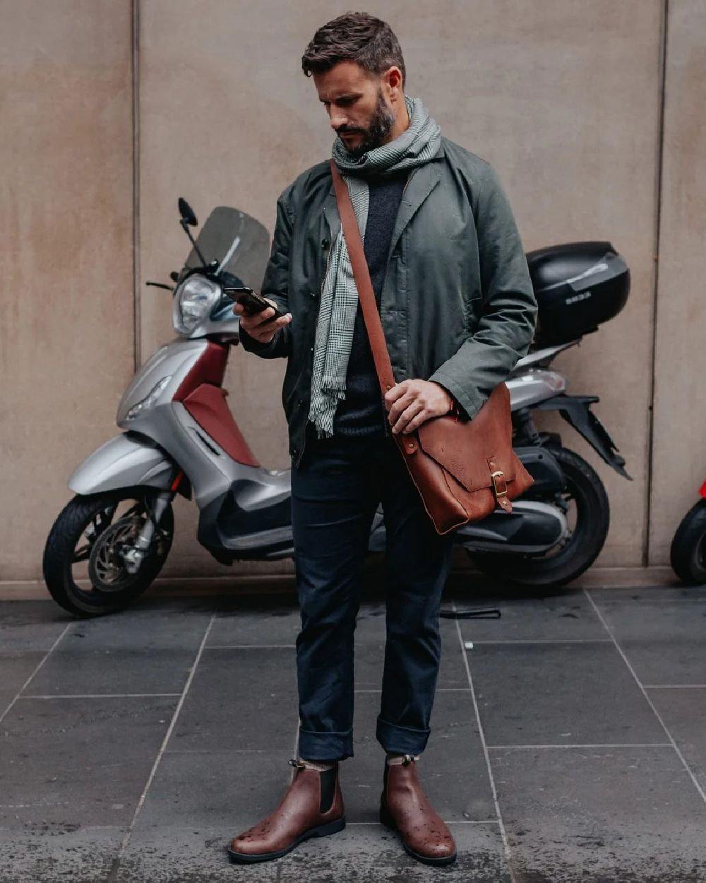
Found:
[{"label": "wide grey paving tile below scooter's rear wheel, second row from the wall", "polygon": [[665,743],[611,644],[480,644],[468,651],[489,745]]}]

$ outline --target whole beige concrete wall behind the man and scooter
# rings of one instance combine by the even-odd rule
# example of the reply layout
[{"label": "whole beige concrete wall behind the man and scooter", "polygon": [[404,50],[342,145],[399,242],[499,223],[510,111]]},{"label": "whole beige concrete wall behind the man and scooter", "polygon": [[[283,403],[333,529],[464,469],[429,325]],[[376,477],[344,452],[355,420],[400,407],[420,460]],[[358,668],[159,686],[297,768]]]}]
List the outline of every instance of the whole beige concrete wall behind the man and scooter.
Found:
[{"label": "whole beige concrete wall behind the man and scooter", "polygon": [[[36,0],[0,8],[11,45],[1,69],[4,128],[9,120],[16,133],[0,144],[0,162],[16,170],[9,177],[11,204],[21,200],[22,208],[13,215],[31,212],[35,224],[51,230],[50,236],[30,236],[28,220],[12,240],[5,257],[11,278],[25,289],[31,285],[32,294],[22,306],[11,298],[14,325],[9,332],[5,322],[0,331],[3,366],[18,378],[4,408],[13,419],[0,428],[13,464],[11,485],[4,486],[3,509],[12,521],[0,527],[0,578],[31,578],[40,572],[49,523],[68,499],[64,481],[72,465],[111,433],[133,343],[140,361],[168,340],[170,306],[166,292],[139,288],[133,328],[127,4],[57,0],[47,7]],[[231,204],[272,229],[282,188],[329,155],[327,117],[299,64],[316,27],[348,8],[348,0],[135,4],[139,279],[164,279],[184,258],[179,195],[197,215]],[[596,466],[611,497],[605,564],[641,564],[648,555],[652,563],[664,562],[693,497],[700,457],[704,471],[704,427],[693,414],[699,375],[692,367],[703,357],[701,351],[689,355],[689,346],[699,349],[697,283],[706,269],[706,152],[696,112],[704,99],[706,22],[699,0],[672,0],[669,9],[663,139],[664,0],[379,0],[370,7],[400,37],[409,94],[424,98],[447,137],[499,171],[528,250],[609,239],[630,265],[633,289],[624,313],[557,362],[573,390],[601,396],[597,412],[635,477],[627,483],[614,475],[567,430],[567,444]],[[66,86],[71,78],[79,87]],[[8,102],[8,94],[17,100]],[[60,138],[50,141],[56,128]],[[700,172],[694,168],[699,162]],[[46,186],[37,184],[38,175],[47,178]],[[59,241],[55,206],[64,203],[73,214]],[[61,294],[56,260],[70,268],[59,280]],[[37,267],[46,268],[46,279],[37,279]],[[40,304],[47,297],[58,314],[51,335]],[[59,313],[57,307],[70,300],[71,312]],[[681,334],[685,324],[687,336]],[[255,452],[272,466],[288,462],[282,371],[283,363],[243,351],[233,353],[229,367],[231,407]],[[256,380],[266,390],[257,396],[251,391]],[[669,445],[680,421],[692,428],[681,435],[675,457]],[[39,486],[41,500],[32,502],[27,491]],[[178,505],[177,520],[167,572],[222,573],[192,539],[194,519],[185,504]]]}]

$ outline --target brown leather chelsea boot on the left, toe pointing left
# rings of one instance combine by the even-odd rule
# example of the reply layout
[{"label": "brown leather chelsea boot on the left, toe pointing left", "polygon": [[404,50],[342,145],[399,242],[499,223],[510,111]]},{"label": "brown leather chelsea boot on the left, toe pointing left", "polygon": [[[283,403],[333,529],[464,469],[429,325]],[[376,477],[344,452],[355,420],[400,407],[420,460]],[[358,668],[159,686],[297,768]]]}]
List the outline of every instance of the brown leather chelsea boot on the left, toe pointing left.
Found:
[{"label": "brown leather chelsea boot on the left, toe pointing left", "polygon": [[338,764],[324,773],[289,761],[297,773],[274,812],[230,841],[231,862],[267,862],[309,837],[326,837],[346,826]]}]

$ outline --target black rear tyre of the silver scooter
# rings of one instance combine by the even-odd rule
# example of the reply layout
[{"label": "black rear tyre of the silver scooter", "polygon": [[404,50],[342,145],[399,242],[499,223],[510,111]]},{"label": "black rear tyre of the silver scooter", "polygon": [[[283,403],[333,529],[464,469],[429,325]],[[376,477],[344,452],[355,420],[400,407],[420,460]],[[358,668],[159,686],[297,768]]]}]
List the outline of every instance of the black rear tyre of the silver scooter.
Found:
[{"label": "black rear tyre of the silver scooter", "polygon": [[550,448],[560,464],[567,487],[552,497],[532,496],[560,506],[567,514],[569,531],[560,543],[543,555],[519,553],[469,553],[478,570],[515,588],[556,589],[567,585],[590,568],[605,544],[611,508],[603,482],[583,457],[566,448]]}]

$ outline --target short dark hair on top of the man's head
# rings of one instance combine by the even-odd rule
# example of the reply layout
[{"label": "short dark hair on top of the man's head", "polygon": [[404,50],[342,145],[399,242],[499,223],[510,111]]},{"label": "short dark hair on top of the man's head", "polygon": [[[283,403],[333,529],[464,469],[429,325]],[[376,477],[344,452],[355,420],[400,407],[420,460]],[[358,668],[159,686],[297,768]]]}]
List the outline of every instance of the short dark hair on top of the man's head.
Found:
[{"label": "short dark hair on top of the man's head", "polygon": [[312,73],[330,71],[342,61],[354,61],[364,71],[377,74],[396,65],[402,72],[404,86],[400,42],[387,22],[367,12],[346,12],[319,27],[302,56],[302,70],[311,77]]}]

